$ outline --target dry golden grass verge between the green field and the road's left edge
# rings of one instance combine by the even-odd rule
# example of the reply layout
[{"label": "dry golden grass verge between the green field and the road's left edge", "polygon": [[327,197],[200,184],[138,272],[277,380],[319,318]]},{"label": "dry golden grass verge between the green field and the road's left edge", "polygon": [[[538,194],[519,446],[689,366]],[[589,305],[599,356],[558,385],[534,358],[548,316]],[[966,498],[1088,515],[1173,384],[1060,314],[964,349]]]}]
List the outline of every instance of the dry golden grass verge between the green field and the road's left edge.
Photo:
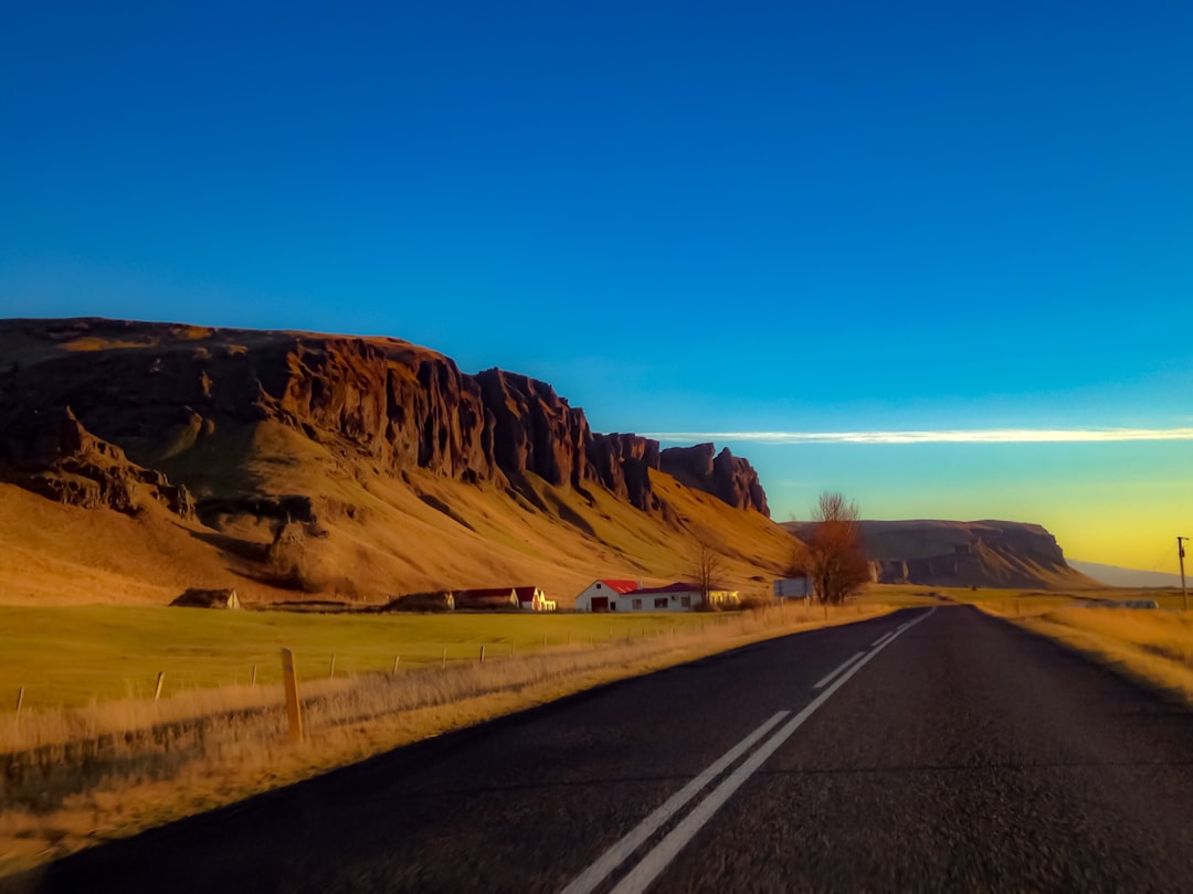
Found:
[{"label": "dry golden grass verge between the green field and the road's left edge", "polygon": [[[387,640],[384,670],[373,663],[345,678],[302,682],[308,737],[301,745],[286,740],[280,683],[260,678],[256,687],[237,683],[191,689],[156,702],[95,700],[84,707],[0,713],[0,752],[8,752],[6,774],[0,776],[0,875],[594,685],[889,610],[885,606],[847,606],[830,609],[828,620],[822,608],[796,606],[724,615],[618,619],[298,616],[324,623],[401,621],[414,628],[421,623],[416,631],[421,638],[410,641],[422,647],[401,652],[402,670],[397,673],[389,672],[394,642]],[[283,625],[289,621],[279,619]],[[433,639],[444,635],[444,622],[456,625],[452,635],[475,634],[488,642],[494,627],[501,631],[508,623],[507,634],[514,638],[511,645],[524,641],[525,648],[487,651],[483,664],[477,648],[477,658],[449,662],[444,668],[441,640]],[[517,629],[543,622],[557,626],[555,645],[542,627]],[[577,635],[577,629],[588,632],[588,638]],[[606,637],[600,638],[599,631]],[[463,645],[471,653],[475,641]],[[531,645],[537,648],[531,651]],[[336,647],[342,650],[342,645]],[[308,662],[301,647],[295,648],[301,677],[311,664],[320,666],[317,660]],[[336,652],[338,662],[341,653],[347,654]],[[422,659],[408,662],[407,654]],[[236,658],[242,665],[243,656],[237,653]],[[264,653],[261,660],[266,660]],[[272,647],[268,660],[279,664]],[[157,732],[147,733],[150,727]]]}]

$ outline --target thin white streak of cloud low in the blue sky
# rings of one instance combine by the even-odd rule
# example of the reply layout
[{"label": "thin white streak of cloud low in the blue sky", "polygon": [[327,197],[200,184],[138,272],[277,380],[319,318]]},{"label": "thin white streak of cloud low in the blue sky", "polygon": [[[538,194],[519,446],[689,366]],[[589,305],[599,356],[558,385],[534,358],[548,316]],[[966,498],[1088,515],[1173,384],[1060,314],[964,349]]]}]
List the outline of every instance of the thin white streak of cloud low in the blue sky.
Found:
[{"label": "thin white streak of cloud low in the blue sky", "polygon": [[942,432],[662,432],[667,443],[754,441],[758,443],[1083,443],[1193,441],[1193,428],[987,428]]}]

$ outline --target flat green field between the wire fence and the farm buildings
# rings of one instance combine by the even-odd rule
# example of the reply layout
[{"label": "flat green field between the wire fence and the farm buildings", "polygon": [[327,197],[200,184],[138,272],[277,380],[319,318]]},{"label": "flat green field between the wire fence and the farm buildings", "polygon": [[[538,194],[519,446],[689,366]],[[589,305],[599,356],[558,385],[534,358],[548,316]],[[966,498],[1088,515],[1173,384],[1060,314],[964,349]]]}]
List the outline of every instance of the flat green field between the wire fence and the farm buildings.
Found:
[{"label": "flat green field between the wire fence and the farm buildings", "polygon": [[91,701],[152,697],[183,689],[280,681],[279,650],[293,650],[301,678],[388,671],[447,659],[500,659],[568,641],[659,635],[727,622],[728,615],[460,614],[342,615],[218,611],[187,608],[0,606],[0,710],[25,688],[25,707],[79,707]]}]

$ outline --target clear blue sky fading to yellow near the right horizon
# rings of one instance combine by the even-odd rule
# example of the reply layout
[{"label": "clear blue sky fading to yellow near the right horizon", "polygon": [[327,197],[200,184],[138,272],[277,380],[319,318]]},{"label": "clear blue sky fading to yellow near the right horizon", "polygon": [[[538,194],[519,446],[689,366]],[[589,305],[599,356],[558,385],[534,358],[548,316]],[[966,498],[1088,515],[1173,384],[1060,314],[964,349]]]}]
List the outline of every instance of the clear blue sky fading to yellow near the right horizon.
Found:
[{"label": "clear blue sky fading to yellow near the right horizon", "polygon": [[0,316],[400,336],[717,434],[779,519],[1172,570],[1191,45],[1187,0],[7,0]]}]

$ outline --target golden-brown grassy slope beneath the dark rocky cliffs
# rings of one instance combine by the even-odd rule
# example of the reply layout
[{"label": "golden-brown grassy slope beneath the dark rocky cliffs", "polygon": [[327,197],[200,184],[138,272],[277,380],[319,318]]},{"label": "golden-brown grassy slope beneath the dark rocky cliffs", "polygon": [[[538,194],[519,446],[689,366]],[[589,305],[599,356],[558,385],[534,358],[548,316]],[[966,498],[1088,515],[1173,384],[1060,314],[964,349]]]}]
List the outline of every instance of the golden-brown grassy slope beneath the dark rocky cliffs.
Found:
[{"label": "golden-brown grassy slope beneath the dark rocky cliffs", "polygon": [[[725,553],[729,583],[761,594],[790,558],[790,538],[768,519],[662,473],[655,486],[675,509],[674,523],[599,488],[589,505],[532,479],[544,510],[490,486],[424,472],[408,473],[407,483],[345,466],[310,441],[298,461],[296,436],[279,429],[255,433],[240,474],[267,483],[267,492],[319,501],[328,536],[308,539],[301,563],[324,596],[377,602],[419,590],[538,584],[568,607],[598,577],[690,577],[698,538]],[[0,602],[160,604],[187,586],[236,586],[248,601],[302,598],[245,560],[270,540],[266,524],[216,532],[154,505],[132,519],[0,484]]]}]

